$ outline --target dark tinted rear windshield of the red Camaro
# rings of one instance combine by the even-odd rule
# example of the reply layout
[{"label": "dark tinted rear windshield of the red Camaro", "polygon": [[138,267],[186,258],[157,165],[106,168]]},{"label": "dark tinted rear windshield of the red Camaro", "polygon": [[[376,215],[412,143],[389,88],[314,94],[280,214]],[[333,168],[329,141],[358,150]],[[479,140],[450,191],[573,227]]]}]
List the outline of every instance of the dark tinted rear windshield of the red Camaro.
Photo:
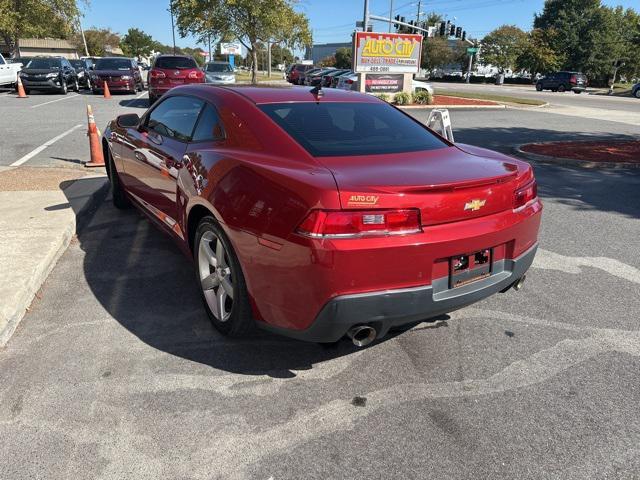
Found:
[{"label": "dark tinted rear windshield of the red Camaro", "polygon": [[260,108],[315,157],[376,155],[448,146],[417,121],[377,103],[308,102]]}]

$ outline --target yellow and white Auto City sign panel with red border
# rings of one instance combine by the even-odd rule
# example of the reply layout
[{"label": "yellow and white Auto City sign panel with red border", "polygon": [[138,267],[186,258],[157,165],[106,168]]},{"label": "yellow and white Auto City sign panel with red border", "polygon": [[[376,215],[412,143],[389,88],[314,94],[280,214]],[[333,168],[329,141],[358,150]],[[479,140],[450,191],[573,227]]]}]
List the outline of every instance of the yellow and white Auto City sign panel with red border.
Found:
[{"label": "yellow and white Auto City sign panel with red border", "polygon": [[357,73],[418,73],[422,35],[356,32]]}]

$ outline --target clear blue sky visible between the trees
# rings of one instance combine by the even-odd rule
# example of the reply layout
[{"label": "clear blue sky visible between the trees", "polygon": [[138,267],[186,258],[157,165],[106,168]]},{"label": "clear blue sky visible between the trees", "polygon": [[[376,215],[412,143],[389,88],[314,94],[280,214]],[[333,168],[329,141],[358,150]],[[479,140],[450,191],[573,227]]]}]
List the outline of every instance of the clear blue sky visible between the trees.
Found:
[{"label": "clear blue sky visible between the trees", "polygon": [[[393,0],[394,14],[415,19],[418,0]],[[154,39],[171,44],[171,17],[168,0],[92,0],[85,8],[84,28],[110,27],[126,33],[136,27]],[[604,4],[632,7],[640,10],[640,0],[603,0]],[[387,16],[390,0],[370,0],[371,13]],[[544,0],[423,0],[423,11],[448,15],[473,38],[481,38],[503,24],[531,28],[533,14],[542,11]],[[299,10],[311,21],[315,43],[346,42],[356,20],[362,19],[362,0],[301,0]],[[455,20],[454,20],[454,17]],[[387,31],[387,25],[378,23],[374,29]],[[192,38],[181,39],[176,33],[176,44],[195,46]]]}]

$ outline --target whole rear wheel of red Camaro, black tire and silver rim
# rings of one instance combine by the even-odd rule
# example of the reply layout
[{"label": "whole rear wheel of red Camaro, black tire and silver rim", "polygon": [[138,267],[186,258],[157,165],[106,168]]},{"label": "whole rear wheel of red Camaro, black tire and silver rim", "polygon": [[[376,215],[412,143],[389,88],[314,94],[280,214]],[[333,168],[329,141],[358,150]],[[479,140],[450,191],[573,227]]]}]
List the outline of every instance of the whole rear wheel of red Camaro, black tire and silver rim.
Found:
[{"label": "whole rear wheel of red Camaro, black tire and silver rim", "polygon": [[231,242],[213,217],[200,221],[193,252],[196,280],[211,323],[223,335],[247,335],[253,328],[253,318],[242,268]]}]

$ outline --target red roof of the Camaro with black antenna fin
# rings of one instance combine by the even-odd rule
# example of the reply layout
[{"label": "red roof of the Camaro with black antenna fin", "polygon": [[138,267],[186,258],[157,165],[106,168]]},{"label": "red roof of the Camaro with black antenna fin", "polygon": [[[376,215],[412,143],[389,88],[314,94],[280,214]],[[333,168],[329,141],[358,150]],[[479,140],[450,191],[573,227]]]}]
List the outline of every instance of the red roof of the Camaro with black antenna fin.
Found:
[{"label": "red roof of the Camaro with black antenna fin", "polygon": [[287,86],[254,86],[254,85],[211,85],[211,84],[193,84],[189,86],[176,87],[172,92],[189,93],[194,92],[203,97],[207,97],[215,92],[216,89],[222,89],[241,95],[255,104],[265,103],[297,103],[297,102],[358,102],[358,103],[377,103],[377,98],[352,92],[348,90],[336,90],[333,88],[322,89],[322,96],[317,97],[311,93],[310,87],[287,87]]}]

